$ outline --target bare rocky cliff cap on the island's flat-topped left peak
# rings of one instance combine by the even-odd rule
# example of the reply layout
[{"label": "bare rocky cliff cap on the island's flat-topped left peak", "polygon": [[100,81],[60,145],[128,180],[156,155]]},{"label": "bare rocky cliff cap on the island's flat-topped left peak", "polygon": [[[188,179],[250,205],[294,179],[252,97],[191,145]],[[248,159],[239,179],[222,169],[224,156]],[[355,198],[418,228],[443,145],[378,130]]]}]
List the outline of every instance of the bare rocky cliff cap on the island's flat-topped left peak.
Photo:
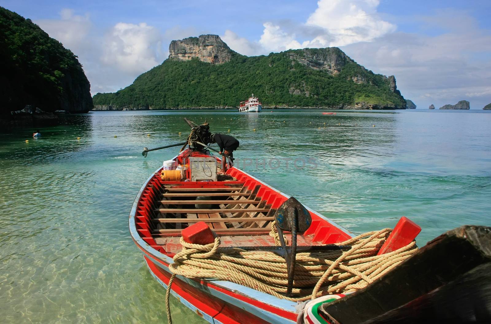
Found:
[{"label": "bare rocky cliff cap on the island's flat-topped left peak", "polygon": [[200,35],[173,40],[169,45],[169,58],[189,61],[197,58],[202,62],[221,64],[230,61],[233,54],[218,35]]}]

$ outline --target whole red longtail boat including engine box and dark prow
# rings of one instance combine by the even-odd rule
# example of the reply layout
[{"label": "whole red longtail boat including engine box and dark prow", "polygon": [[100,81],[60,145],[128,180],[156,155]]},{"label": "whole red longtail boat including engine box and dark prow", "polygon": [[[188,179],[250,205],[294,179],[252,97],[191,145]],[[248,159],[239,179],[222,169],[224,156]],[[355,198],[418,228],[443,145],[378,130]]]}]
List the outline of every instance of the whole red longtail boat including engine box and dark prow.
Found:
[{"label": "whole red longtail boat including engine box and dark prow", "polygon": [[[203,136],[196,135],[199,127],[193,127],[194,135],[191,131],[188,138],[190,146],[173,158],[179,165],[177,169],[170,172],[163,167],[157,169],[139,190],[130,212],[129,227],[133,241],[143,252],[150,273],[166,289],[172,276],[169,265],[182,249],[180,237],[183,229],[204,221],[220,237],[223,246],[274,246],[274,239],[269,236],[269,225],[275,212],[289,199],[287,194],[250,174],[233,166],[227,167],[222,163],[224,158],[212,156],[210,148],[203,143]],[[148,151],[145,148],[145,156]],[[195,162],[205,164],[198,168],[194,167]],[[217,164],[221,164],[222,179],[215,178],[218,171],[213,171],[212,167]],[[205,169],[207,165],[211,167]],[[168,173],[179,179],[171,179]],[[352,233],[325,216],[308,208],[305,210],[311,222],[303,233],[297,235],[299,248],[341,243],[353,238]],[[291,234],[284,233],[287,239],[292,239]],[[474,239],[476,233],[479,240]],[[454,289],[458,289],[462,287],[458,280],[467,278],[479,279],[477,283],[466,282],[467,294],[480,294],[484,298],[481,304],[489,307],[491,249],[489,245],[483,245],[490,244],[491,228],[467,226],[434,241],[367,287],[319,307],[319,321],[326,321],[319,323],[378,323],[379,320],[392,323],[394,319],[407,319],[405,323],[421,319],[465,322],[479,313],[479,308],[468,300],[463,303],[462,297],[440,288],[451,287],[457,282]],[[449,257],[449,247],[445,244],[457,254]],[[485,267],[488,271],[476,274],[473,270],[478,267]],[[425,270],[423,278],[411,277],[410,273],[422,269]],[[382,280],[386,277],[390,280]],[[424,286],[418,284],[420,281]],[[401,289],[404,289],[404,294],[400,293]],[[435,289],[439,290],[435,293]],[[392,296],[394,291],[399,291],[397,297]],[[294,324],[298,317],[295,301],[226,280],[177,275],[171,294],[213,324]],[[453,308],[448,316],[432,308],[435,305],[441,308],[442,302]],[[490,319],[489,314],[481,314],[481,319]]]}]

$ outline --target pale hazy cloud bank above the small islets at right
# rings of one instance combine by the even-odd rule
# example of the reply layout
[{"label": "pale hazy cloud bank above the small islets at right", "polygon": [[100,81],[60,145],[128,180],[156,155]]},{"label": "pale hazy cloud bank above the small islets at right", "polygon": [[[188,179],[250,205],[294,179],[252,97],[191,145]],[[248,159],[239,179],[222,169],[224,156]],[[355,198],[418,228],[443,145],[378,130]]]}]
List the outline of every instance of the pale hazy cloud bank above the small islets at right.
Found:
[{"label": "pale hazy cloud bank above the small islets at right", "polygon": [[[447,16],[445,10],[420,20],[433,24],[446,21]],[[454,12],[453,16],[467,24],[436,36],[389,33],[342,50],[376,73],[395,75],[397,88],[418,108],[430,104],[438,108],[459,100],[469,101],[471,108],[482,108],[491,102],[491,34],[479,29],[465,13]]]}]

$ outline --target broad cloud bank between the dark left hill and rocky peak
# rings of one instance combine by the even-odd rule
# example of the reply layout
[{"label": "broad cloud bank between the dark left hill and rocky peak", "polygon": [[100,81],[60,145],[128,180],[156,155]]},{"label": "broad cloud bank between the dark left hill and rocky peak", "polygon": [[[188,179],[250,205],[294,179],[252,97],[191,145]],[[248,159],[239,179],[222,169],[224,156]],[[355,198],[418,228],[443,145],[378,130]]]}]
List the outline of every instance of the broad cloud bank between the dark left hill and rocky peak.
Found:
[{"label": "broad cloud bank between the dark left hill and rocky peak", "polygon": [[166,58],[162,35],[155,27],[118,23],[104,34],[87,13],[77,15],[64,8],[59,15],[35,23],[79,56],[92,94],[125,87]]}]

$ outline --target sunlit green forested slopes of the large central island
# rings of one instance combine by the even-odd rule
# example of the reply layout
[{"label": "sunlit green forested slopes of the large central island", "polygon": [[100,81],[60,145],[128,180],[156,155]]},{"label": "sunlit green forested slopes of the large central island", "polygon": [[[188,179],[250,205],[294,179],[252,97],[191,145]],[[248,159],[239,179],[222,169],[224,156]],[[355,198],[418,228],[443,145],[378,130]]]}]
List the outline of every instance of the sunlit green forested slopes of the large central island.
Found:
[{"label": "sunlit green forested slopes of the large central island", "polygon": [[[269,107],[406,108],[393,77],[366,70],[337,48],[251,57],[231,52],[230,60],[222,64],[170,57],[130,86],[96,94],[94,106],[108,110],[237,107],[253,92]],[[186,56],[182,53],[181,58]]]}]

